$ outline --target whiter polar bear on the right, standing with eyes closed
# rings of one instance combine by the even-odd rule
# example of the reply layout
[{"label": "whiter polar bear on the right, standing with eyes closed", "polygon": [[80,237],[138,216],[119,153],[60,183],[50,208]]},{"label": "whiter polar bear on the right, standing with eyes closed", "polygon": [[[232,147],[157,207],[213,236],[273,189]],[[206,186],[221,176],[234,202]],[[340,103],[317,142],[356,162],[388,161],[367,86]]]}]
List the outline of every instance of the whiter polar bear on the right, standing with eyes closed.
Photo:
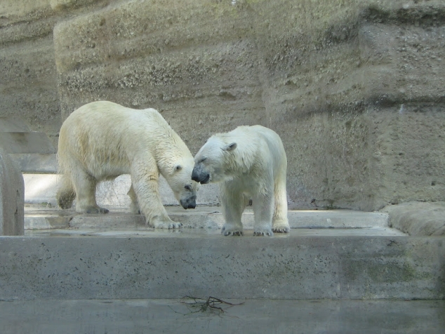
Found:
[{"label": "whiter polar bear on the right, standing with eyes closed", "polygon": [[[221,233],[242,235],[241,215],[253,201],[255,236],[289,232],[287,160],[279,135],[264,126],[239,126],[209,138],[196,156],[192,180],[220,182]],[[273,231],[273,232],[272,232]]]}]

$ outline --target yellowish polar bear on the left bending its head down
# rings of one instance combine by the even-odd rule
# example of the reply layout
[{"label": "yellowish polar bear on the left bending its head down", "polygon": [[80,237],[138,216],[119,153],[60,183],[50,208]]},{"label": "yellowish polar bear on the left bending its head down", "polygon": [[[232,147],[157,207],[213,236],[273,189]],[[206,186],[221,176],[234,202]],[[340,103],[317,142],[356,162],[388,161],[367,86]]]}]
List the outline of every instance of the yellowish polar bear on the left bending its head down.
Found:
[{"label": "yellowish polar bear on the left bending its head down", "polygon": [[74,111],[60,128],[58,160],[62,182],[57,199],[79,213],[108,213],[95,201],[102,180],[131,175],[131,211],[147,225],[176,228],[159,196],[159,173],[185,209],[196,206],[193,156],[155,109],[135,110],[113,102],[91,102]]}]

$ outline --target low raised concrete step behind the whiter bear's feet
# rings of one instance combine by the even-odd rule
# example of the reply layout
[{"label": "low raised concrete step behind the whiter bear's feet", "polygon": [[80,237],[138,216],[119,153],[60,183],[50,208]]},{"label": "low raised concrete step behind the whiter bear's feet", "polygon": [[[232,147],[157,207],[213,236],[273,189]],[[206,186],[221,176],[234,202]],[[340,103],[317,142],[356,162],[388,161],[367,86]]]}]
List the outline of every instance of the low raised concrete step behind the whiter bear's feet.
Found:
[{"label": "low raised concrete step behind the whiter bear's feet", "polygon": [[[109,208],[106,215],[81,215],[71,210],[60,210],[48,207],[27,205],[25,207],[25,229],[138,229],[146,230],[145,218],[132,215],[126,208]],[[194,210],[184,210],[180,206],[166,206],[168,215],[176,222],[182,222],[184,228],[223,227],[224,218],[219,206],[197,206]],[[360,211],[288,211],[291,228],[340,228],[360,229],[387,227],[386,213],[365,213]],[[246,208],[243,214],[245,229],[253,229],[253,211]]]}]

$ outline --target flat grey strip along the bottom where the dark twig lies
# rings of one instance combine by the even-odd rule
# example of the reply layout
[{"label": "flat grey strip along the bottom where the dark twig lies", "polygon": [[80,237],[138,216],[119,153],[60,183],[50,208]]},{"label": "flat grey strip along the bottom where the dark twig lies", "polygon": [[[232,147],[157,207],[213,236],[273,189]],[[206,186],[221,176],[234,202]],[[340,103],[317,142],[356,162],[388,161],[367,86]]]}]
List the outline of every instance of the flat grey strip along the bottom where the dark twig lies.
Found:
[{"label": "flat grey strip along the bottom where the dark twig lies", "polygon": [[445,300],[227,301],[2,301],[0,333],[445,333]]}]

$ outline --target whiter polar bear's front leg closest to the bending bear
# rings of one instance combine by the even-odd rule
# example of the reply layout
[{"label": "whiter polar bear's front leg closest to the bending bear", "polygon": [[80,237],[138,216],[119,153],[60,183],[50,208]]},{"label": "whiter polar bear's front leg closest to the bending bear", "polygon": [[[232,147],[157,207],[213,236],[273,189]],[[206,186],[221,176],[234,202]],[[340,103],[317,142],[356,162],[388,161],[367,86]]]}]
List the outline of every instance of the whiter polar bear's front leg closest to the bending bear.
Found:
[{"label": "whiter polar bear's front leg closest to the bending bear", "polygon": [[221,207],[223,208],[223,216],[225,224],[221,228],[221,234],[225,236],[242,236],[243,225],[241,223],[241,216],[245,206],[244,196],[238,189],[227,185],[221,185]]}]

